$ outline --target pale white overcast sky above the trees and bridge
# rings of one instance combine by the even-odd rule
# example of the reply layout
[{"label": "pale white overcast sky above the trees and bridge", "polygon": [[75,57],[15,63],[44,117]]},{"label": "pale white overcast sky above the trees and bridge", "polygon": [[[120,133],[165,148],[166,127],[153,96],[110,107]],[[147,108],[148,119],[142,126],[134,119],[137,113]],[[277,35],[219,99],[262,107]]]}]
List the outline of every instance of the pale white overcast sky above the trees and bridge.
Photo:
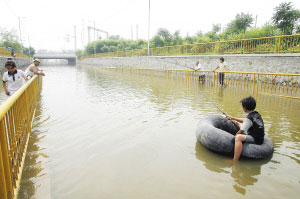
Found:
[{"label": "pale white overcast sky above the trees and bridge", "polygon": [[[270,21],[274,7],[282,0],[151,0],[152,37],[158,28],[172,33],[180,30],[182,36],[211,30],[212,24],[226,26],[240,12],[257,15],[257,25]],[[292,0],[300,9],[300,1]],[[0,27],[14,29],[19,34],[21,21],[22,40],[36,49],[74,49],[74,40],[66,42],[66,34],[74,35],[76,25],[78,48],[87,44],[87,25],[118,34],[125,39],[147,39],[148,0],[0,0]],[[84,27],[84,29],[83,29]],[[84,30],[84,32],[83,32]],[[84,35],[84,37],[83,37]],[[91,35],[93,38],[93,35]],[[105,38],[105,35],[101,35]]]}]

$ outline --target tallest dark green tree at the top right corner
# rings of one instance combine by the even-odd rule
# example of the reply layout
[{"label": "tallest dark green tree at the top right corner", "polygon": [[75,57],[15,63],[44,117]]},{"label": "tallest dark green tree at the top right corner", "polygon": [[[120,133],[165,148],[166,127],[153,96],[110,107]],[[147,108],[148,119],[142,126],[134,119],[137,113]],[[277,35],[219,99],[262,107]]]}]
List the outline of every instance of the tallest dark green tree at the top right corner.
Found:
[{"label": "tallest dark green tree at the top right corner", "polygon": [[291,2],[281,3],[274,10],[275,13],[272,17],[274,24],[276,24],[283,34],[292,34],[300,19],[300,11],[295,9]]}]

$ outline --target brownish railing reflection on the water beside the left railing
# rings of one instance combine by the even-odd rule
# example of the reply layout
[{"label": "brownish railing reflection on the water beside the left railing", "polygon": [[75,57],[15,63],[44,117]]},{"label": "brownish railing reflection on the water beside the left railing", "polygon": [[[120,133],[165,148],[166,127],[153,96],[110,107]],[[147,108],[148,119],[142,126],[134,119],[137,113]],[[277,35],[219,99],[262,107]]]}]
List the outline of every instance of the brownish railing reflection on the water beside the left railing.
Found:
[{"label": "brownish railing reflection on the water beside the left railing", "polygon": [[[38,106],[36,108],[35,118],[32,125],[32,132],[29,138],[27,153],[25,156],[18,199],[39,198],[39,196],[37,196],[37,191],[41,189],[41,186],[43,187],[42,189],[44,189],[46,186],[43,184],[45,183],[43,179],[47,175],[45,165],[49,157],[45,152],[46,146],[43,146],[46,132],[39,129],[39,127],[47,122],[50,117],[42,117],[42,108],[40,103],[41,101],[38,100]],[[43,195],[43,198],[48,197]]]}]

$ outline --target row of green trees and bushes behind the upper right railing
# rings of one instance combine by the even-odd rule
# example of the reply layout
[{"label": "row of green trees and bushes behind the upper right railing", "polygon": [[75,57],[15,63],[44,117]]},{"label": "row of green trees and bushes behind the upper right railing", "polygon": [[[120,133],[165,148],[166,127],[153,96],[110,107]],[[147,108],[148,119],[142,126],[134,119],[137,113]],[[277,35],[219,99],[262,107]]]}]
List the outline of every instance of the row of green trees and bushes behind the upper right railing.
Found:
[{"label": "row of green trees and bushes behind the upper right railing", "polygon": [[[221,24],[213,24],[212,29],[206,33],[198,31],[193,36],[181,36],[177,30],[171,33],[166,28],[158,29],[150,40],[150,48],[174,46],[183,44],[206,43],[224,40],[237,40],[259,38],[278,35],[291,35],[300,33],[300,10],[291,2],[281,3],[274,8],[270,22],[261,27],[253,26],[254,17],[248,13],[238,13],[224,28]],[[84,50],[76,52],[78,57],[94,53],[116,52],[147,48],[146,40],[126,40],[119,35],[110,36],[106,40],[90,42]]]}]

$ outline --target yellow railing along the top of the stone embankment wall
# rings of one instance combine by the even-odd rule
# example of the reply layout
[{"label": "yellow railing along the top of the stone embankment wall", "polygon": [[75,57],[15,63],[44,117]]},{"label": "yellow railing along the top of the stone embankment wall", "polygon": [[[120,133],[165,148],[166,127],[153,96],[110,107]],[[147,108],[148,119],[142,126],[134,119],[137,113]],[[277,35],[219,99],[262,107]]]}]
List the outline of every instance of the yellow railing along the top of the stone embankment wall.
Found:
[{"label": "yellow railing along the top of the stone embankment wall", "polygon": [[[300,53],[300,34],[150,48],[150,56],[261,53]],[[98,53],[81,59],[130,56],[147,56],[147,49]]]}]

